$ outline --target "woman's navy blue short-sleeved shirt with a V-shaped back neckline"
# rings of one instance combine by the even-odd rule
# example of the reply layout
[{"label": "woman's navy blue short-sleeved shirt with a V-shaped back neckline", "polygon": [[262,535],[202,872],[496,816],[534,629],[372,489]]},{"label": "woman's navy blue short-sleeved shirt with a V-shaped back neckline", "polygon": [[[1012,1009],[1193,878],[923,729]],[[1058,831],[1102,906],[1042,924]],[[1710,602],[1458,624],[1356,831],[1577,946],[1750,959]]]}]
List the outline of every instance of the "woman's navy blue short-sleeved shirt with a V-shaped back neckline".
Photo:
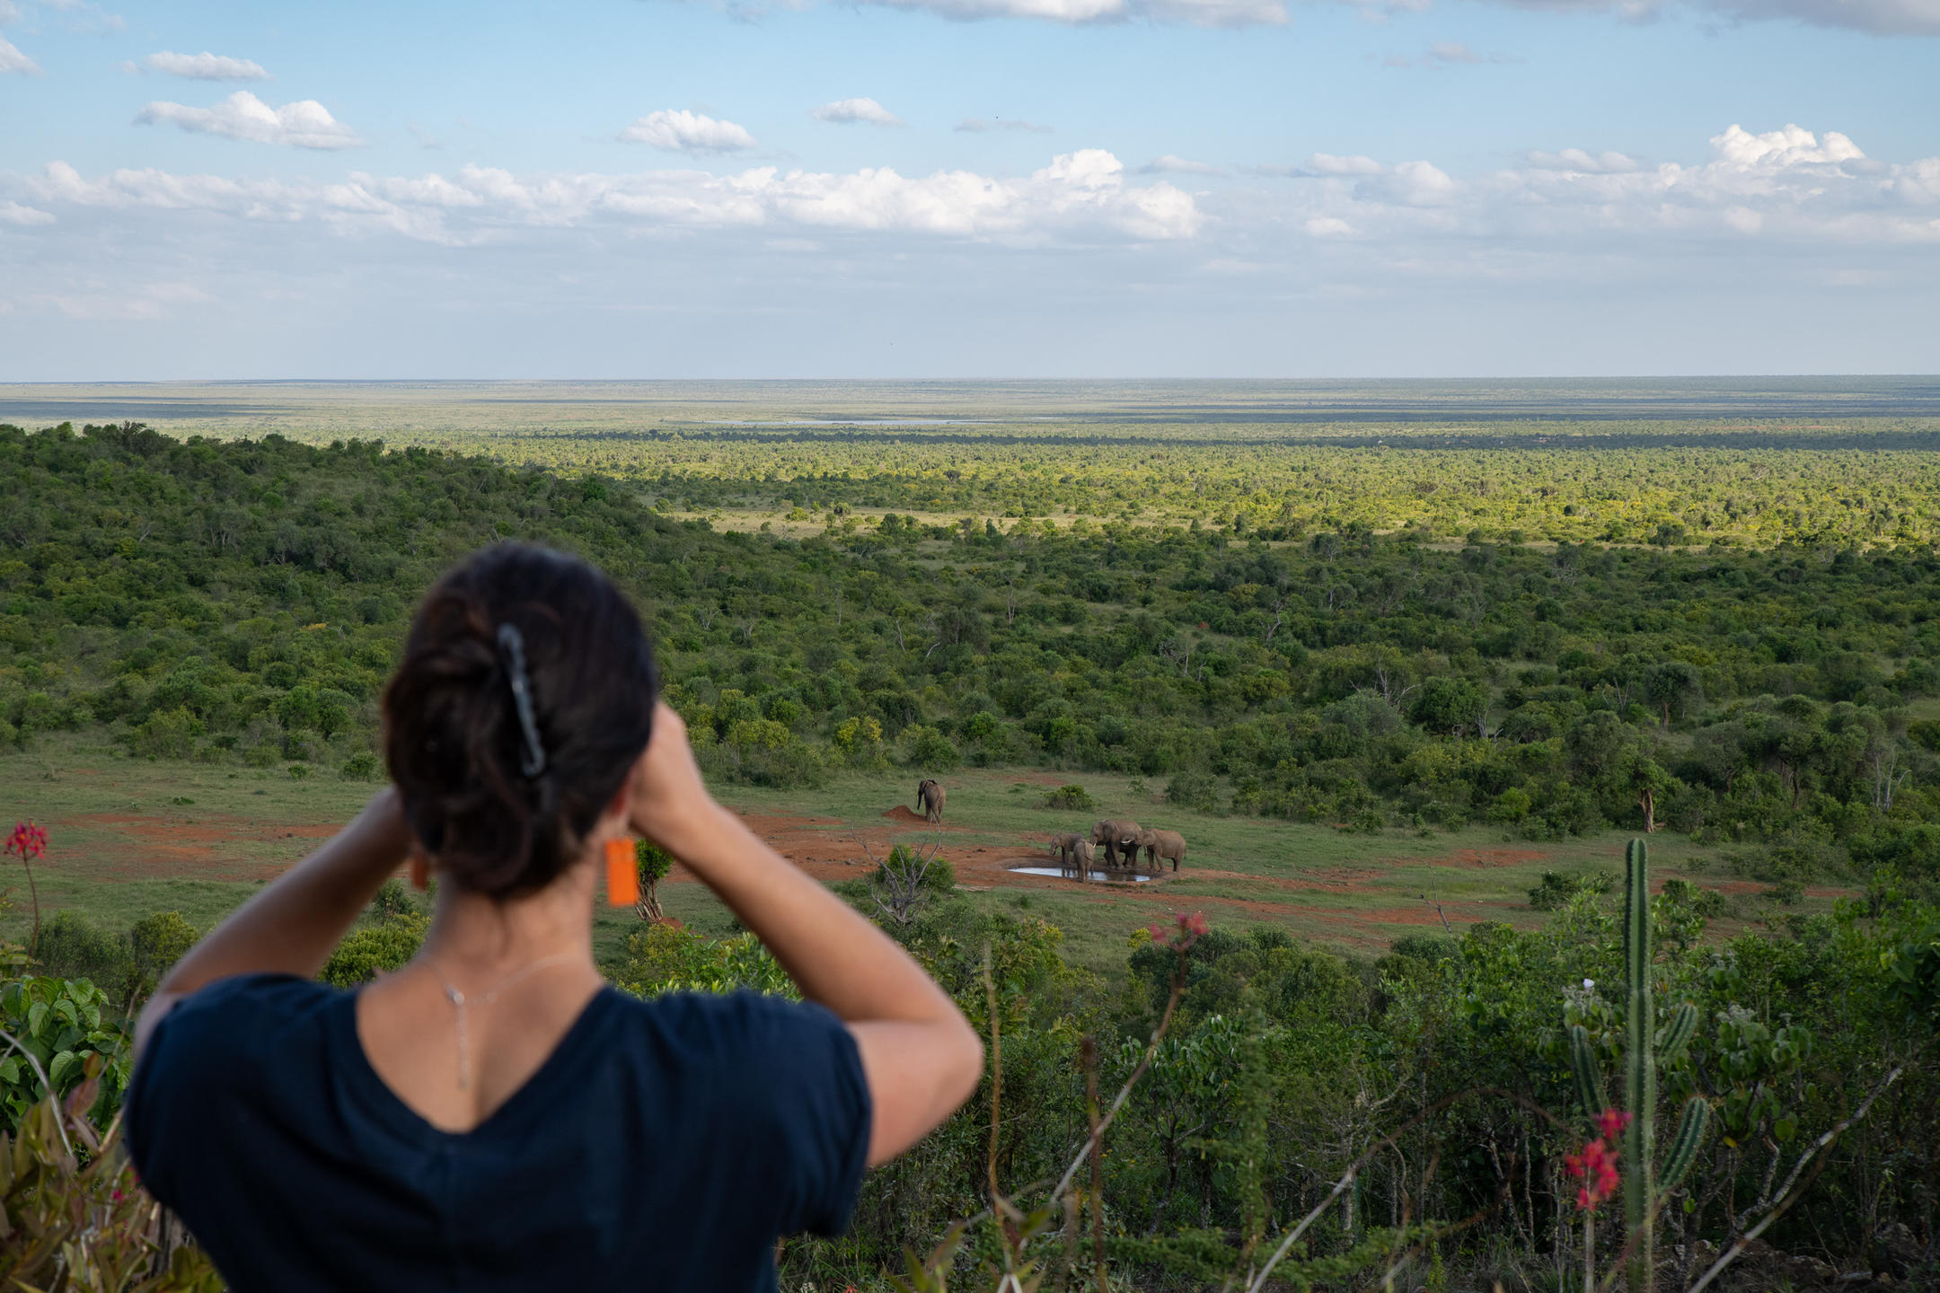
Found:
[{"label": "woman's navy blue short-sleeved shirt with a V-shaped back neckline", "polygon": [[237,1293],[759,1291],[776,1237],[848,1223],[869,1088],[819,1006],[603,989],[462,1134],[384,1086],[355,1008],[307,979],[225,979],[136,1068],[136,1169]]}]

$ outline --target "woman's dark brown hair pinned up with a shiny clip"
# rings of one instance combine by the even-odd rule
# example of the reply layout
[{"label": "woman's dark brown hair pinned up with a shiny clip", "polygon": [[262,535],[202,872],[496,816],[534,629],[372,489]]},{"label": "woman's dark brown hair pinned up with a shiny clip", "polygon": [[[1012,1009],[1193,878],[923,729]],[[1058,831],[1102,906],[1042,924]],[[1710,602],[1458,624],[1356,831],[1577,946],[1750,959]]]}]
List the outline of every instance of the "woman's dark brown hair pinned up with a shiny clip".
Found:
[{"label": "woman's dark brown hair pinned up with a shiny clip", "polygon": [[551,884],[646,748],[654,692],[640,616],[584,560],[501,543],[446,572],[384,688],[384,758],[438,872],[491,898]]}]

